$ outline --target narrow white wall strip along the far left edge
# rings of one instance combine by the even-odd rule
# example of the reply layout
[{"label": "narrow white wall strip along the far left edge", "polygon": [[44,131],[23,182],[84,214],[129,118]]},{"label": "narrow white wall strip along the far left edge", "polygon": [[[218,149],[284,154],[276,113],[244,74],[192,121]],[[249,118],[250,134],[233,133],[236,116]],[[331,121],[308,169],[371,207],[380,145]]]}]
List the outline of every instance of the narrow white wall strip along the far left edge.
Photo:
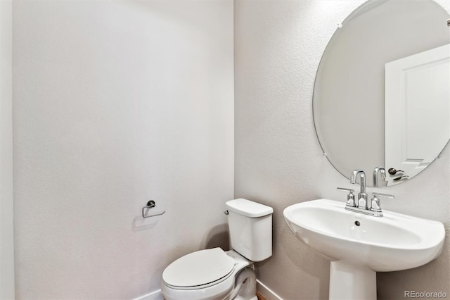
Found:
[{"label": "narrow white wall strip along the far left edge", "polygon": [[14,299],[12,12],[0,0],[0,299]]}]

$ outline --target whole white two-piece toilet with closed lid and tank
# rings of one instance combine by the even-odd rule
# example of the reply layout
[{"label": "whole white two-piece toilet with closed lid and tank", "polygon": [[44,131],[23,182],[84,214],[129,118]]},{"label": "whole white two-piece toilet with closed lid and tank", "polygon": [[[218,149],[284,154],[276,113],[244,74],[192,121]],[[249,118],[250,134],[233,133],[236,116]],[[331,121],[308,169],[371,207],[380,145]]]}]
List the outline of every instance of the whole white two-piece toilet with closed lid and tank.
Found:
[{"label": "whole white two-piece toilet with closed lid and tank", "polygon": [[257,300],[254,262],[272,255],[273,208],[246,199],[226,202],[231,249],[186,254],[165,268],[165,300]]}]

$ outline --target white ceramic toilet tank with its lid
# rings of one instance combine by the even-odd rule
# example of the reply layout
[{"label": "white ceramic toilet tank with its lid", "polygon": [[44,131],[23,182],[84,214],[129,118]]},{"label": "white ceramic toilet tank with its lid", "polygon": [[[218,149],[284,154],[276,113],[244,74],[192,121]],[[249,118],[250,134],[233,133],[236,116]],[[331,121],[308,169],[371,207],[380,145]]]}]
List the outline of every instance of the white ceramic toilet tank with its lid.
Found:
[{"label": "white ceramic toilet tank with its lid", "polygon": [[272,256],[274,209],[246,199],[226,202],[231,248],[250,261]]}]

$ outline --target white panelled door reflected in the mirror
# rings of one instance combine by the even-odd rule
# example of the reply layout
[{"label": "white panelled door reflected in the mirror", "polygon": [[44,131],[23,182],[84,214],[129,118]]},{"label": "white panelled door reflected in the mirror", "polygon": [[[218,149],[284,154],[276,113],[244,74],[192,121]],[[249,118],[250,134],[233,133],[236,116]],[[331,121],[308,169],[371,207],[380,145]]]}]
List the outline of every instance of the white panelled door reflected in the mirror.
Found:
[{"label": "white panelled door reflected in the mirror", "polygon": [[385,165],[402,170],[387,176],[387,185],[416,176],[439,156],[450,137],[449,99],[450,45],[386,63]]}]

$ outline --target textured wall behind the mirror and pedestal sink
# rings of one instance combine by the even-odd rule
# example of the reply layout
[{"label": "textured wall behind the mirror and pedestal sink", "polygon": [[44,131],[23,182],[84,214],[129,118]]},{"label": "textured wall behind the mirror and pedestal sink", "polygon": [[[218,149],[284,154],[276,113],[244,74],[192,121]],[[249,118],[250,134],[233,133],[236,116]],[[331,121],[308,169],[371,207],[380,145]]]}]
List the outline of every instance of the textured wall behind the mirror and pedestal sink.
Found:
[{"label": "textured wall behind the mirror and pedestal sink", "polygon": [[[258,265],[259,280],[286,300],[328,299],[329,261],[302,244],[283,220],[290,204],[345,201],[350,187],[322,156],[312,119],[312,91],[321,54],[341,23],[364,1],[235,1],[235,196],[273,206],[274,256]],[[449,1],[439,1],[450,11]],[[371,189],[372,190],[372,189]],[[395,194],[391,211],[450,224],[450,148]],[[450,241],[420,268],[378,273],[378,297],[404,290],[450,293]]]}]

